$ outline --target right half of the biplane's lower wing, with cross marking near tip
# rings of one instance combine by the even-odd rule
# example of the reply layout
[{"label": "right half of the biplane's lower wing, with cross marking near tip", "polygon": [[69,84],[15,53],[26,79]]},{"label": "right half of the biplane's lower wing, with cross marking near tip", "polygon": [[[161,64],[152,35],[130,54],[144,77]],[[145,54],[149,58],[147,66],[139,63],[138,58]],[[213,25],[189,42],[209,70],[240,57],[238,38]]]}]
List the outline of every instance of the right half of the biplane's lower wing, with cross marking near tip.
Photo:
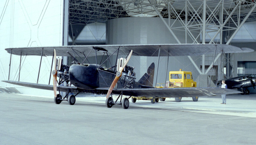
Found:
[{"label": "right half of the biplane's lower wing, with cross marking near tip", "polygon": [[201,97],[216,96],[224,94],[238,94],[240,91],[226,88],[135,88],[135,89],[114,89],[113,94],[131,95],[135,97],[159,97],[159,98],[175,98],[175,97]]}]

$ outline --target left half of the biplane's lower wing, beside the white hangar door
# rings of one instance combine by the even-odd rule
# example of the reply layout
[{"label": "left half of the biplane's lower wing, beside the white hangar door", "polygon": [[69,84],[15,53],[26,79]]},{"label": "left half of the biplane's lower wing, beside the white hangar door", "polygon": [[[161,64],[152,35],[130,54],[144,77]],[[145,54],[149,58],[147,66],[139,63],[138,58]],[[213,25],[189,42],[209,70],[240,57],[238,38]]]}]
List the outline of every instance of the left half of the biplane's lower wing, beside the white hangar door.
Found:
[{"label": "left half of the biplane's lower wing, beside the white hangar door", "polygon": [[[2,81],[2,82],[7,82],[14,85],[21,85],[24,87],[39,88],[39,89],[53,91],[53,85],[43,85],[43,84],[36,84],[36,83],[30,83],[30,82],[17,82],[17,81]],[[68,91],[68,90],[77,91],[78,88],[70,87],[70,86],[57,86],[57,91]]]}]

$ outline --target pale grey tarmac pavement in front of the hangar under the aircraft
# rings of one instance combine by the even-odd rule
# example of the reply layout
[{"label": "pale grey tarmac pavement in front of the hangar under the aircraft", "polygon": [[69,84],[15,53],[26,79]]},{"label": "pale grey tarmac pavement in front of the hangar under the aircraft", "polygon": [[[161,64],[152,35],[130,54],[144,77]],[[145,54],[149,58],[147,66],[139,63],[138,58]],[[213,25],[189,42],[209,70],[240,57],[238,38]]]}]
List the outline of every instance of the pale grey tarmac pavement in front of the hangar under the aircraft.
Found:
[{"label": "pale grey tarmac pavement in front of the hangar under the aircraft", "polygon": [[256,94],[174,98],[128,109],[82,94],[75,105],[52,97],[0,94],[0,145],[253,145]]}]

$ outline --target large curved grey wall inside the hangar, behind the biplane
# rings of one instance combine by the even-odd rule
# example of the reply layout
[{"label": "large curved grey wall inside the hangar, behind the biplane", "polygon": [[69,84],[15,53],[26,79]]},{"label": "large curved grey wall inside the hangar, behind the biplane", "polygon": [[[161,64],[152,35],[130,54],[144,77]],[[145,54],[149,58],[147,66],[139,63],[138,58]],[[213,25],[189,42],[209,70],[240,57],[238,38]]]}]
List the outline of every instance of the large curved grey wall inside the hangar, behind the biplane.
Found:
[{"label": "large curved grey wall inside the hangar, behind the biplane", "polygon": [[[168,19],[165,19],[166,22]],[[174,20],[171,22],[174,22]],[[180,23],[175,23],[174,27],[179,26]],[[172,25],[172,24],[171,24]],[[179,41],[185,43],[185,32],[173,30]],[[195,32],[194,35],[198,35],[199,32]],[[191,39],[187,39],[187,43],[193,43]],[[150,17],[131,17],[131,18],[119,18],[111,19],[107,23],[107,44],[177,44],[177,41],[171,35],[171,32],[164,25],[160,18]],[[155,52],[158,53],[158,52]],[[161,53],[166,53],[161,51]],[[115,57],[114,57],[115,58]],[[200,65],[200,57],[192,57],[195,62]],[[115,60],[113,60],[114,63]],[[167,57],[160,57],[158,80],[156,80],[158,57],[131,57],[129,66],[135,66],[135,73],[137,81],[147,72],[148,66],[155,63],[155,77],[154,84],[164,83],[167,68]],[[169,71],[178,71],[182,69],[184,71],[191,71],[194,79],[197,78],[199,73],[195,69],[194,65],[190,62],[188,57],[169,57],[168,69]],[[167,77],[168,80],[168,77]]]}]

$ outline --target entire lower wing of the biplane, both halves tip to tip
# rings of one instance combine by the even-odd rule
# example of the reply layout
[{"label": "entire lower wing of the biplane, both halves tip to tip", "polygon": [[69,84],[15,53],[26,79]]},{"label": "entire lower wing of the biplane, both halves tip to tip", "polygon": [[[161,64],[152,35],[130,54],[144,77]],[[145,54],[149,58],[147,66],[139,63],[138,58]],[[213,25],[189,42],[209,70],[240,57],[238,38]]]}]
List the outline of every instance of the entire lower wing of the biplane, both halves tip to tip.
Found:
[{"label": "entire lower wing of the biplane, both halves tip to tip", "polygon": [[[44,90],[53,91],[53,85],[43,85],[29,82],[17,82],[17,81],[3,81],[14,85],[21,85],[30,88],[39,88]],[[59,91],[72,91],[72,92],[107,92],[108,88],[96,88],[93,90],[80,89],[72,86],[58,86]],[[240,91],[225,89],[225,88],[115,88],[112,91],[113,94],[121,94],[135,97],[158,97],[158,98],[175,98],[175,97],[201,97],[201,96],[216,96],[223,94],[239,94]]]}]

